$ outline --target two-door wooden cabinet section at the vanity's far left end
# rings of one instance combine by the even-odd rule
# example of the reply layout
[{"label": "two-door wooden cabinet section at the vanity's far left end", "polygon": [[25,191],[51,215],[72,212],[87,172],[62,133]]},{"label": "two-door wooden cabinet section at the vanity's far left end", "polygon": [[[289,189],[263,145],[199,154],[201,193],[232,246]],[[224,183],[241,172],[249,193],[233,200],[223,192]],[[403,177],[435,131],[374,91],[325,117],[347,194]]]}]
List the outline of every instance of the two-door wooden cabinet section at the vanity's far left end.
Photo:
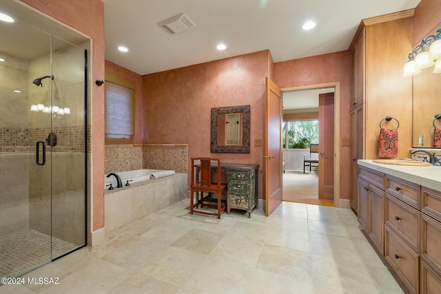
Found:
[{"label": "two-door wooden cabinet section at the vanity's far left end", "polygon": [[358,222],[384,252],[384,174],[360,167],[358,178]]}]

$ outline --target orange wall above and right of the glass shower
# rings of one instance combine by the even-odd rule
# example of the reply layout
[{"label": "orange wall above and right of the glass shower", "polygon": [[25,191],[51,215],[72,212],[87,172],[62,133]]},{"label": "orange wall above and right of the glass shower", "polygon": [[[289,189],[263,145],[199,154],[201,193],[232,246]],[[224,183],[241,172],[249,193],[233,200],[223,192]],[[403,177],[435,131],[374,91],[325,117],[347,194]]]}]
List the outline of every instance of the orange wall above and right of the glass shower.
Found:
[{"label": "orange wall above and right of the glass shower", "polygon": [[[49,17],[65,23],[92,39],[92,54],[89,60],[88,77],[90,95],[88,101],[89,122],[92,125],[92,197],[88,200],[89,209],[93,209],[92,228],[95,231],[104,227],[104,87],[98,87],[92,81],[104,78],[104,6],[100,0],[21,0],[21,2],[47,14]],[[91,70],[93,69],[93,70]],[[88,185],[91,183],[89,182]],[[90,203],[92,202],[92,203]],[[92,208],[91,208],[92,207]],[[89,224],[88,224],[89,225]]]}]

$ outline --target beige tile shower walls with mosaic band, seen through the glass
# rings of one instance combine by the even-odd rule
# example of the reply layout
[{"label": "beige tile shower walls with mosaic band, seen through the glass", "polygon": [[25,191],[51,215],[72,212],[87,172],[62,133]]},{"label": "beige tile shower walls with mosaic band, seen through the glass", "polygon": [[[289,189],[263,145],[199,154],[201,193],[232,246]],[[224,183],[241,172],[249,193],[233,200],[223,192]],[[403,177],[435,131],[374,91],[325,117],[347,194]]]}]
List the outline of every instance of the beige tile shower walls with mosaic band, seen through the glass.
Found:
[{"label": "beige tile shower walls with mosaic band, seen through the glass", "polygon": [[[50,79],[43,80],[43,87],[31,83],[34,78],[50,74],[50,55],[24,61],[2,54],[7,58],[0,64],[0,236],[28,228],[50,234],[52,205],[52,235],[72,243],[83,242],[78,240],[83,240],[85,223],[72,220],[84,219],[85,199],[81,196],[85,185],[85,90],[84,79],[77,74],[83,70],[83,63],[80,67],[68,66],[78,63],[70,60],[75,54],[71,58],[69,50],[53,53],[52,68],[57,76],[53,81],[52,105],[70,107],[71,114],[52,116],[52,129],[50,114],[29,111],[32,104],[50,105]],[[52,147],[52,158],[48,156],[50,147],[47,148],[46,165],[40,167],[35,164],[35,145],[48,138],[50,132],[57,133],[57,146]],[[55,163],[52,202],[51,160]],[[76,213],[81,213],[81,217]]]}]

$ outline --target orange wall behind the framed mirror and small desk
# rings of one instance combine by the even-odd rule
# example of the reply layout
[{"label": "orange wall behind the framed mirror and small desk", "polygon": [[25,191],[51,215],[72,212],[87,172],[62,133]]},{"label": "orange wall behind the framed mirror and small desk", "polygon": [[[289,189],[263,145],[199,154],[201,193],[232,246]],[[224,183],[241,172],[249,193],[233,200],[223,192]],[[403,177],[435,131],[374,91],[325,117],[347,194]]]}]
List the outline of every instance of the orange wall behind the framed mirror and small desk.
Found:
[{"label": "orange wall behind the framed mirror and small desk", "polygon": [[[262,198],[263,147],[254,146],[254,140],[263,139],[265,132],[265,77],[271,67],[271,54],[265,50],[143,76],[143,143],[188,144],[188,158],[257,163]],[[234,105],[251,106],[250,153],[211,154],[211,109]]]}]

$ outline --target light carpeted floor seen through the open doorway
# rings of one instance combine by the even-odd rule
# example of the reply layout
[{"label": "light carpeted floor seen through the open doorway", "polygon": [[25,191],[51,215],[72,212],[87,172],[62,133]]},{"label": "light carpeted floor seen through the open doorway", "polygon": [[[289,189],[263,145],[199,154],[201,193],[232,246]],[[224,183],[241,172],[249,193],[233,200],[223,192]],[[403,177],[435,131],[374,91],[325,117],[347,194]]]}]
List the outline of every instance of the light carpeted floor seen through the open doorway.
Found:
[{"label": "light carpeted floor seen through the open doorway", "polygon": [[318,199],[318,171],[286,169],[283,174],[283,201],[334,206],[329,200]]}]

